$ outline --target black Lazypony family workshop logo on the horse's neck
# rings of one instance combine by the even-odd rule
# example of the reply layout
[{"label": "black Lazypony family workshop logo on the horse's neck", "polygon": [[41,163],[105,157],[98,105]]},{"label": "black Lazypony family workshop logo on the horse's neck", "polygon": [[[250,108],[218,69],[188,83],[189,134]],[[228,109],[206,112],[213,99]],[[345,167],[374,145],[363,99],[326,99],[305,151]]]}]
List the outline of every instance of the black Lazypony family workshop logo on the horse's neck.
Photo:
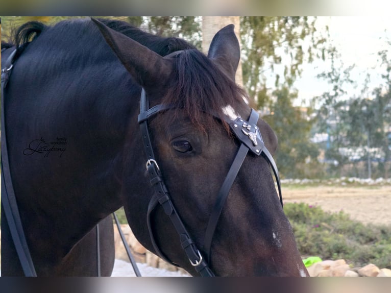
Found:
[{"label": "black Lazypony family workshop logo on the horse's neck", "polygon": [[59,154],[61,158],[62,154],[66,151],[66,138],[56,137],[56,140],[46,142],[43,137],[40,139],[34,139],[29,143],[29,147],[23,150],[23,155],[31,156],[33,154],[43,154],[44,158],[47,158],[52,153]]}]

